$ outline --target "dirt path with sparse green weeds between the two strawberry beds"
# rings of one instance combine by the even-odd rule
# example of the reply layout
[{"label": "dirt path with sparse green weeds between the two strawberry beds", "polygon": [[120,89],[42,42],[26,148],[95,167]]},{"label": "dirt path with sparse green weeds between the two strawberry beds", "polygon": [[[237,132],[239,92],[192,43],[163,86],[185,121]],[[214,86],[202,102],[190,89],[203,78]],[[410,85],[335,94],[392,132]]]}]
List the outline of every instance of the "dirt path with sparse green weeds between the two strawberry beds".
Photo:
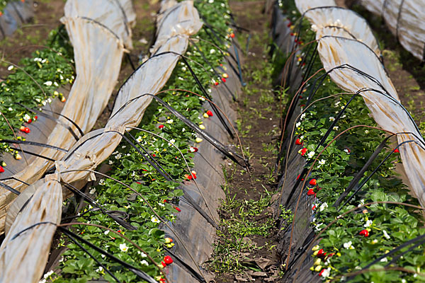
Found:
[{"label": "dirt path with sparse green weeds between the two strawberry beds", "polygon": [[211,266],[217,283],[275,282],[279,274],[271,204],[276,199],[273,169],[280,128],[276,93],[272,90],[273,64],[268,56],[269,18],[263,13],[264,4],[230,2],[237,25],[249,30],[238,33],[247,85],[237,102],[237,125],[251,168],[250,172],[235,166],[225,168],[227,180],[223,188],[227,198],[220,209],[222,232],[218,233]]}]

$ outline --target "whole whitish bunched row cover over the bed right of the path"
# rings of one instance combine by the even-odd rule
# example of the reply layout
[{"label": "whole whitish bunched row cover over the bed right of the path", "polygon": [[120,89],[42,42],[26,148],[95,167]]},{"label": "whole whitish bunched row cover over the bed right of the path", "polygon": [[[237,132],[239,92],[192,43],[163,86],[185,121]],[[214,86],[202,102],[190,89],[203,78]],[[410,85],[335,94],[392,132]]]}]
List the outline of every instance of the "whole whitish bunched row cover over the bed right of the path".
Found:
[{"label": "whole whitish bunched row cover over the bed right of the path", "polygon": [[[297,0],[296,2],[307,0]],[[297,6],[302,6],[297,3]],[[322,6],[327,6],[323,1]],[[337,12],[336,12],[337,11]],[[344,11],[344,13],[342,13]],[[378,57],[378,44],[370,28],[356,13],[344,9],[315,8],[305,13],[317,30],[317,51],[324,69],[345,91],[359,95],[365,100],[373,118],[382,129],[397,134],[404,171],[412,190],[422,206],[425,205],[425,142],[414,120],[401,105],[397,91]],[[322,21],[322,22],[320,22]],[[329,28],[329,21],[338,22],[338,28]],[[363,34],[362,34],[363,29]],[[356,38],[354,38],[356,37]],[[370,89],[369,91],[363,91]]]}]

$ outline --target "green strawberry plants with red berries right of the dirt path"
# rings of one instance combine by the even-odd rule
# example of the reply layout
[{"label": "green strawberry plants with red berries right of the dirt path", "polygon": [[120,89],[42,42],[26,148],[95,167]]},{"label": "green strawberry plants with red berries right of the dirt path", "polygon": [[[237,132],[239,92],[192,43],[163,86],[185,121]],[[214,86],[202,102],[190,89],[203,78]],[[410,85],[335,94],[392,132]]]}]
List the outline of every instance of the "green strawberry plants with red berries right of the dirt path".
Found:
[{"label": "green strawberry plants with red berries right of the dirt path", "polygon": [[[293,1],[280,1],[279,6],[291,22],[288,26],[293,30],[293,38],[297,36],[298,45],[302,46],[299,42],[308,42],[314,38],[307,20],[300,25],[293,24],[300,17]],[[299,63],[311,57],[311,52],[300,53],[300,60],[296,60],[297,65],[306,70]],[[307,65],[309,63],[307,61]],[[310,74],[320,68],[322,63],[316,57]],[[318,76],[321,74],[324,72],[320,72]],[[310,93],[313,87],[307,84],[302,96]],[[300,98],[301,110],[306,111],[295,123],[294,144],[304,146],[300,154],[306,158],[307,169],[324,146],[327,146],[314,164],[311,174],[314,179],[307,179],[315,187],[304,188],[305,194],[313,199],[314,218],[311,225],[314,233],[317,235],[322,232],[317,246],[312,248],[314,263],[311,270],[326,282],[344,279],[350,279],[350,282],[375,283],[400,280],[422,282],[425,280],[424,244],[417,237],[424,235],[424,218],[418,209],[400,204],[419,206],[418,200],[397,178],[395,167],[401,163],[398,151],[385,146],[361,175],[361,185],[349,192],[342,202],[339,200],[354,176],[386,137],[378,129],[356,127],[331,142],[336,134],[354,125],[377,127],[361,96],[356,96],[349,104],[350,96],[334,96],[305,108],[307,103],[314,100],[343,92],[329,77],[324,79],[312,100]],[[347,104],[348,107],[341,113],[341,119],[333,125]],[[324,139],[328,129],[331,132]],[[390,153],[392,154],[387,158]],[[370,202],[395,203],[368,204]],[[328,224],[331,226],[325,228]],[[409,246],[412,241],[416,244]],[[399,249],[402,245],[407,246]],[[392,267],[401,267],[402,270]]]}]

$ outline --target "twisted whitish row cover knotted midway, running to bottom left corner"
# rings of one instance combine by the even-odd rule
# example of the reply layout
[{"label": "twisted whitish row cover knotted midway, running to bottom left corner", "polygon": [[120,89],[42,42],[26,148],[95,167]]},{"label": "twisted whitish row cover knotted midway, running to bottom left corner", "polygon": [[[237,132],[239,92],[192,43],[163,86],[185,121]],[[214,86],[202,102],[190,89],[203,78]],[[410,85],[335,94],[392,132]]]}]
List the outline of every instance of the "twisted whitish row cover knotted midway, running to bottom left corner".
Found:
[{"label": "twisted whitish row cover knotted midway, running to bottom left corner", "polygon": [[[197,33],[202,27],[192,1],[183,1],[171,9],[173,11],[169,13],[167,19],[172,19],[173,21],[169,21],[169,24],[178,28],[159,47],[158,54],[168,51],[183,54],[188,47],[188,37]],[[190,19],[191,25],[186,23],[187,15],[193,16]],[[68,19],[68,21],[70,20]],[[171,29],[170,25],[160,26],[166,30]],[[96,58],[99,61],[106,59],[104,57]],[[113,115],[105,129],[98,129],[82,137],[67,156],[64,156],[61,161],[56,161],[57,170],[54,174],[47,175],[43,180],[28,187],[29,192],[35,193],[22,212],[16,216],[16,220],[0,247],[1,283],[38,282],[47,262],[56,227],[52,224],[42,224],[38,225],[37,229],[28,229],[18,236],[16,236],[17,233],[43,221],[60,223],[62,214],[60,180],[71,183],[76,180],[94,179],[93,174],[79,170],[94,170],[118,146],[121,141],[120,134],[124,134],[126,127],[137,126],[140,123],[143,113],[152,100],[149,96],[140,96],[143,93],[154,94],[160,91],[171,76],[179,58],[179,55],[167,53],[151,58],[142,64],[120,88]],[[97,78],[99,79],[101,76]],[[73,172],[64,173],[64,171]],[[23,198],[28,200],[28,195]],[[13,210],[18,212],[20,209],[21,207],[17,206]],[[16,278],[19,270],[26,270],[26,272],[21,272],[21,276]]]}]

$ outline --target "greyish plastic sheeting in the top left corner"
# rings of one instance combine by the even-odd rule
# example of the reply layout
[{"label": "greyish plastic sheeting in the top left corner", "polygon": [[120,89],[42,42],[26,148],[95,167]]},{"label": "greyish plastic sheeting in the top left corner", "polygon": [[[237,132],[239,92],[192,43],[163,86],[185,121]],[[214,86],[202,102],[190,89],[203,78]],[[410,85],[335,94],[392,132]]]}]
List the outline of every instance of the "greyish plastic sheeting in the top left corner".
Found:
[{"label": "greyish plastic sheeting in the top left corner", "polygon": [[34,16],[33,0],[9,1],[0,16],[0,40],[15,32]]}]

